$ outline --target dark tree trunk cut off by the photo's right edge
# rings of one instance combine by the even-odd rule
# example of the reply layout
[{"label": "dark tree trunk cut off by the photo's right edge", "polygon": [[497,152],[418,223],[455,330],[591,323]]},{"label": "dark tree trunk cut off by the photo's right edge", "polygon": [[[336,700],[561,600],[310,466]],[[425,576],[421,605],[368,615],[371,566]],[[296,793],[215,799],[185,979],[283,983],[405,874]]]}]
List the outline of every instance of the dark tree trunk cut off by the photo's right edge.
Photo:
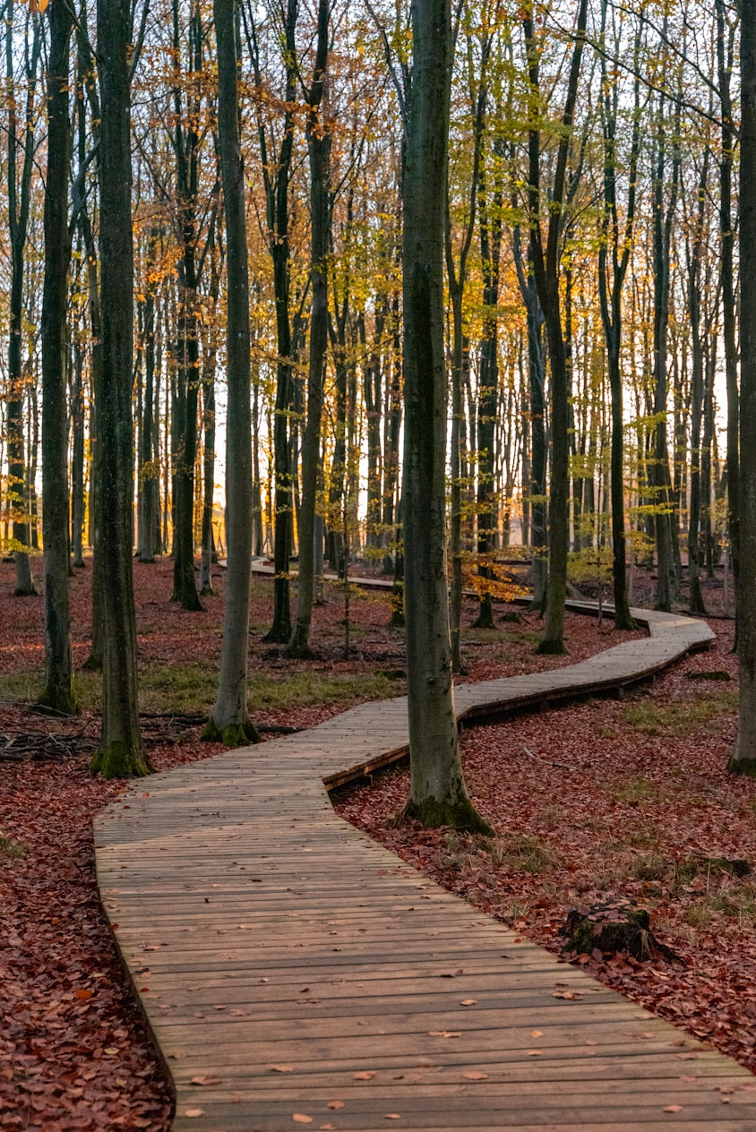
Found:
[{"label": "dark tree trunk cut off by the photo's right edge", "polygon": [[[740,183],[756,183],[756,0],[740,9]],[[756,197],[740,199],[740,572],[738,738],[728,770],[756,778]]]}]

